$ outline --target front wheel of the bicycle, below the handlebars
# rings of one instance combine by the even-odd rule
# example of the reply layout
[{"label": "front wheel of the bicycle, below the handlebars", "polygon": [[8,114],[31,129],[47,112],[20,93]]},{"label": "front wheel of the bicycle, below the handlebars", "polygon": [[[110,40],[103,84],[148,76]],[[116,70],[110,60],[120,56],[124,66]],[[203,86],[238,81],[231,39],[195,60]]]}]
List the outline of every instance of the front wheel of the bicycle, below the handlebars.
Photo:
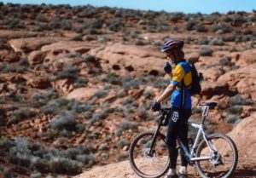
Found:
[{"label": "front wheel of the bicycle, below the handlebars", "polygon": [[155,130],[148,130],[137,135],[131,143],[129,160],[134,172],[144,178],[154,178],[164,175],[168,169],[169,157],[165,136],[159,134],[154,142],[153,150],[150,146]]}]

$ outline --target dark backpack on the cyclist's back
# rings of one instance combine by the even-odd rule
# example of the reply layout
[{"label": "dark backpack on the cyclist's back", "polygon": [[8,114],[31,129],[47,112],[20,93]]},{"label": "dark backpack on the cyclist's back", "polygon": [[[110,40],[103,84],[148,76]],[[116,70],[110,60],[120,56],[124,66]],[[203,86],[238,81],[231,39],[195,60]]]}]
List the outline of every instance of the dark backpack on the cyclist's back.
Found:
[{"label": "dark backpack on the cyclist's back", "polygon": [[191,74],[192,74],[192,83],[191,88],[189,89],[190,95],[200,94],[201,92],[201,80],[203,78],[201,72],[197,72],[195,65],[193,63],[189,63]]}]

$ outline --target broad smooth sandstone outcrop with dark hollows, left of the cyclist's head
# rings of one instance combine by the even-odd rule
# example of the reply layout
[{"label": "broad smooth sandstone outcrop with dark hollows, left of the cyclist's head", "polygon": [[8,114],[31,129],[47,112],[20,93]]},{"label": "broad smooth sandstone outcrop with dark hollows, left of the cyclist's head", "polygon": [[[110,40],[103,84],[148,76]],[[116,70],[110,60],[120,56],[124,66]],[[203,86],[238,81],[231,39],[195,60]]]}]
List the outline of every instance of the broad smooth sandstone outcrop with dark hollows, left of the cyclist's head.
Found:
[{"label": "broad smooth sandstone outcrop with dark hollows, left of the cyclist's head", "polygon": [[122,43],[114,43],[104,49],[94,49],[90,51],[90,54],[101,59],[104,70],[118,71],[119,75],[131,74],[134,71],[137,74],[158,75],[164,65],[164,61],[160,59],[165,57],[152,46],[134,46]]}]

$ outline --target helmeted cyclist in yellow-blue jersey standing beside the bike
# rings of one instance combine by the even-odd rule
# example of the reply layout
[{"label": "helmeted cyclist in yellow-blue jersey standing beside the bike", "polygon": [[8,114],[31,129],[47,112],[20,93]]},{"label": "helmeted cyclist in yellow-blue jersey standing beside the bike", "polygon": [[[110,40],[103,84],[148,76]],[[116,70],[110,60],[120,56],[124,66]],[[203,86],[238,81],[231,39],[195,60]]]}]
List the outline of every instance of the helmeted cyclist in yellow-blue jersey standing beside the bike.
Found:
[{"label": "helmeted cyclist in yellow-blue jersey standing beside the bike", "polygon": [[[168,147],[170,165],[166,178],[177,177],[177,136],[188,148],[188,125],[186,122],[191,116],[191,95],[189,94],[189,85],[192,83],[192,76],[189,64],[184,60],[183,40],[172,39],[165,43],[162,52],[166,53],[169,61],[164,66],[165,72],[170,76],[171,82],[164,92],[154,100],[152,109],[154,112],[160,110],[160,103],[171,96],[172,111],[168,114],[168,129],[166,134],[166,144]],[[175,68],[172,72],[172,66]],[[181,167],[178,170],[180,177],[186,177],[187,159],[181,154]]]}]

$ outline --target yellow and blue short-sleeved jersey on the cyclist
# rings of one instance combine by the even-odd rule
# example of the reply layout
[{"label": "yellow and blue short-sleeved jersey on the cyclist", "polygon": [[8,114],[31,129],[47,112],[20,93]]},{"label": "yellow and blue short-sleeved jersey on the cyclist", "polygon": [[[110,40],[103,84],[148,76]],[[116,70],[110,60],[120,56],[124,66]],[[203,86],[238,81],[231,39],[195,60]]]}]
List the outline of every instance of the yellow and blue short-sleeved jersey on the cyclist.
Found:
[{"label": "yellow and blue short-sleeved jersey on the cyclist", "polygon": [[189,88],[192,83],[192,74],[190,71],[190,66],[187,62],[182,61],[175,66],[174,71],[172,73],[171,83],[177,88],[172,92],[171,96],[171,106],[180,108],[181,102],[181,85],[182,80],[184,81],[184,86],[186,89],[185,95],[185,109],[191,109],[191,95],[189,92]]}]

